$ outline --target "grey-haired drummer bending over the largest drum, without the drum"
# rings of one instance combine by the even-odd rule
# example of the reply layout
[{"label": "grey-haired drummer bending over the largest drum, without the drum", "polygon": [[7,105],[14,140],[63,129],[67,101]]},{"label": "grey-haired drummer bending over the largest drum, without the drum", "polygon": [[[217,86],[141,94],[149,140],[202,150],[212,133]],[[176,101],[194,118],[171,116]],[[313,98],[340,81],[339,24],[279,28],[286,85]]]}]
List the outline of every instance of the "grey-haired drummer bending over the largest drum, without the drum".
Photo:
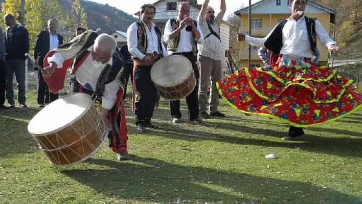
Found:
[{"label": "grey-haired drummer bending over the largest drum, without the drum", "polygon": [[51,92],[57,93],[64,85],[66,69],[72,65],[71,92],[92,95],[102,103],[101,118],[110,129],[109,147],[116,152],[118,160],[129,158],[122,102],[123,63],[123,56],[111,36],[86,31],[49,52],[42,71]]}]

